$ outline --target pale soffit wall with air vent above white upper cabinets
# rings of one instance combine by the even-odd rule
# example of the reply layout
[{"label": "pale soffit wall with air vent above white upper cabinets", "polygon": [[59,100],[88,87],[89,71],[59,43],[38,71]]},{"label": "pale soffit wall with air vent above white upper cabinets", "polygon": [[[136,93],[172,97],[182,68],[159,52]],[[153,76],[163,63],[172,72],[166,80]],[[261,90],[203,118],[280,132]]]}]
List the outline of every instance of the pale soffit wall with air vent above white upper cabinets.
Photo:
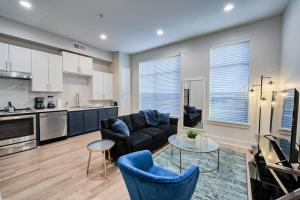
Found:
[{"label": "pale soffit wall with air vent above white upper cabinets", "polygon": [[47,31],[43,31],[41,29],[37,29],[1,16],[0,33],[24,40],[41,43],[58,49],[65,49],[69,51],[78,52],[108,62],[112,62],[113,58],[111,52],[91,47],[89,45],[85,45],[85,51],[73,49],[72,45],[73,42],[76,42],[75,40],[58,36],[53,33],[49,33]]}]

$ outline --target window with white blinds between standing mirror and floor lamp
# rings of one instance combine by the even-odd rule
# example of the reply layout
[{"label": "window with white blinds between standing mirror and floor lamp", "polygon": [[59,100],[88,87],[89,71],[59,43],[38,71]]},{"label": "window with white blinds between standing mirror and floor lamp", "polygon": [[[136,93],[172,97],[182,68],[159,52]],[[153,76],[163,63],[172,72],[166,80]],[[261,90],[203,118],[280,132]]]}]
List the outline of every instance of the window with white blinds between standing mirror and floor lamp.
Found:
[{"label": "window with white blinds between standing mirror and floor lamp", "polygon": [[210,51],[210,120],[248,123],[250,42]]}]

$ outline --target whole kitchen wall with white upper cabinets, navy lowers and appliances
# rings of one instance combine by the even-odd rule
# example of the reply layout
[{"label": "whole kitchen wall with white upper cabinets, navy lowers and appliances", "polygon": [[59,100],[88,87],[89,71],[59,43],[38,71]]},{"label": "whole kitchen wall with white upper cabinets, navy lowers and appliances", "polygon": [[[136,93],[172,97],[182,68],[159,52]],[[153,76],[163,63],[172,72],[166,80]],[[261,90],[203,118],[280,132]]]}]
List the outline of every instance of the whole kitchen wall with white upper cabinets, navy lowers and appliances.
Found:
[{"label": "whole kitchen wall with white upper cabinets, navy lowers and appliances", "polygon": [[0,156],[98,131],[115,99],[111,62],[0,41]]}]

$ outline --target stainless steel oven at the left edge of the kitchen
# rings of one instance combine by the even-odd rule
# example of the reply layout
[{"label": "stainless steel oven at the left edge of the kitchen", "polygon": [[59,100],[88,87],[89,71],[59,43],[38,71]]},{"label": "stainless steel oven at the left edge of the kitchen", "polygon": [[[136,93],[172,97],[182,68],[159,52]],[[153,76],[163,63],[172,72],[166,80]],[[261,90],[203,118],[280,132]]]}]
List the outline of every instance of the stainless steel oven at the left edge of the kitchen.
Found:
[{"label": "stainless steel oven at the left edge of the kitchen", "polygon": [[35,114],[0,116],[0,156],[35,147]]}]

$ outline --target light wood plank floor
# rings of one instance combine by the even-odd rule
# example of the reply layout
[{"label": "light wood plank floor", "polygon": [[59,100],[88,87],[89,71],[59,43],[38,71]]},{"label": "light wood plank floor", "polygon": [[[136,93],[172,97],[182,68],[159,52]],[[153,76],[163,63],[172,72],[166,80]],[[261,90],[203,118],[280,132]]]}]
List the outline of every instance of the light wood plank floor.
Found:
[{"label": "light wood plank floor", "polygon": [[[0,157],[2,199],[128,200],[125,183],[114,164],[108,168],[108,179],[101,175],[101,153],[92,155],[90,171],[86,174],[86,145],[97,139],[101,139],[100,133],[94,132]],[[251,159],[246,149],[221,146],[246,153]]]}]

